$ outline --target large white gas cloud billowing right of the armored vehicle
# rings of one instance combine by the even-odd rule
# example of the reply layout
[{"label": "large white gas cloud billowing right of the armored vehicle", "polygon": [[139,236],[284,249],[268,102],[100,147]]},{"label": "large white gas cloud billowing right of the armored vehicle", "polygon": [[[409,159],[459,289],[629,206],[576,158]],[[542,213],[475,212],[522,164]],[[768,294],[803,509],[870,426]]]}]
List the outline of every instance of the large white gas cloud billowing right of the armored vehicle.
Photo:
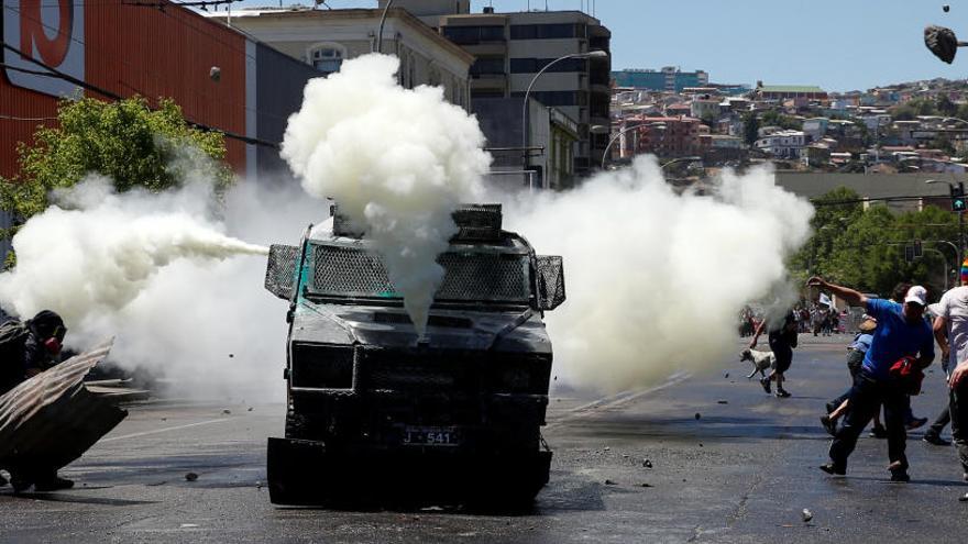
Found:
[{"label": "large white gas cloud billowing right of the armored vehicle", "polygon": [[[784,259],[813,208],[766,169],[725,174],[715,195],[676,195],[651,157],[564,193],[509,202],[509,227],[564,257],[568,301],[547,314],[556,365],[617,391],[722,359],[737,314],[783,292]],[[789,291],[788,291],[789,292]]]}]

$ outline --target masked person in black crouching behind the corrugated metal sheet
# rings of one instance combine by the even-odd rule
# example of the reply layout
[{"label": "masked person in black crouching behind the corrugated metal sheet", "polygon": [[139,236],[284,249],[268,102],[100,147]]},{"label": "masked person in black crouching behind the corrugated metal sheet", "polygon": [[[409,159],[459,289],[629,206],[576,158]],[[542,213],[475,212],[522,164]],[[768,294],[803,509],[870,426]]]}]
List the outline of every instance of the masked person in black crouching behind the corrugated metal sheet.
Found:
[{"label": "masked person in black crouching behind the corrugated metal sheet", "polygon": [[[0,324],[0,397],[21,382],[61,362],[62,343],[67,327],[56,312],[42,310],[26,321],[9,320]],[[74,482],[57,476],[57,470],[38,468],[34,474],[12,475],[13,487],[22,490],[33,484],[37,491],[68,489]],[[0,486],[7,485],[0,475]]]}]

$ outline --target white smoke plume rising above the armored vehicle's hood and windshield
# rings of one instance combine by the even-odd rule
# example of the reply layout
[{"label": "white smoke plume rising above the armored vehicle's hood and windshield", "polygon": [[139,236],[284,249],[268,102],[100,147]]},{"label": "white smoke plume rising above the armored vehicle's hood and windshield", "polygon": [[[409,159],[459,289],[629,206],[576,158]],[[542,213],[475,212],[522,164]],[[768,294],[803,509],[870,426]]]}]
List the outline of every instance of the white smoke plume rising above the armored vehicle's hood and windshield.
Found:
[{"label": "white smoke plume rising above the armored vehicle's hood and windshield", "polygon": [[436,259],[457,232],[451,213],[477,200],[491,158],[474,118],[441,88],[404,89],[398,67],[365,55],[310,81],[282,155],[307,192],[362,226],[422,335],[443,277]]}]

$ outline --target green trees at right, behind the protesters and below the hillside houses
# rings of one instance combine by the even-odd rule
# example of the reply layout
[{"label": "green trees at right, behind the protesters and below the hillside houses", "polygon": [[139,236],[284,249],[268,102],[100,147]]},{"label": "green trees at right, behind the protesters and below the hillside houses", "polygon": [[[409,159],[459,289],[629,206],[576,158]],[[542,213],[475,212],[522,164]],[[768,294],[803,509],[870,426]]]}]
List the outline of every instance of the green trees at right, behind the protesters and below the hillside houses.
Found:
[{"label": "green trees at right, behind the protesters and below the hillside houses", "polygon": [[[856,199],[857,193],[835,189],[816,203]],[[957,266],[954,248],[957,217],[948,210],[925,207],[921,211],[893,213],[888,207],[860,203],[817,206],[814,234],[790,262],[796,276],[818,274],[836,284],[865,292],[888,295],[901,281],[925,285],[935,293],[944,290],[944,273]],[[924,256],[904,260],[904,246],[923,241]]]}]

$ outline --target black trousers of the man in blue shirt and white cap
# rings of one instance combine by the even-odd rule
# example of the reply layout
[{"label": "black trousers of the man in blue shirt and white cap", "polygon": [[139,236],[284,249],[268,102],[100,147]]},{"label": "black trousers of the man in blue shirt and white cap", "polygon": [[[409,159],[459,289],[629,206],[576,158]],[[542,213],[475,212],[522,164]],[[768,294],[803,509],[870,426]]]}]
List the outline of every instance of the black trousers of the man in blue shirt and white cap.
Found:
[{"label": "black trousers of the man in blue shirt and white cap", "polygon": [[831,460],[838,469],[847,468],[847,457],[857,445],[857,437],[870,422],[880,404],[884,406],[884,426],[888,431],[888,457],[898,463],[900,469],[908,469],[904,449],[908,431],[904,414],[908,410],[908,396],[893,379],[876,380],[868,373],[857,376],[850,390],[850,411],[831,444]]}]

